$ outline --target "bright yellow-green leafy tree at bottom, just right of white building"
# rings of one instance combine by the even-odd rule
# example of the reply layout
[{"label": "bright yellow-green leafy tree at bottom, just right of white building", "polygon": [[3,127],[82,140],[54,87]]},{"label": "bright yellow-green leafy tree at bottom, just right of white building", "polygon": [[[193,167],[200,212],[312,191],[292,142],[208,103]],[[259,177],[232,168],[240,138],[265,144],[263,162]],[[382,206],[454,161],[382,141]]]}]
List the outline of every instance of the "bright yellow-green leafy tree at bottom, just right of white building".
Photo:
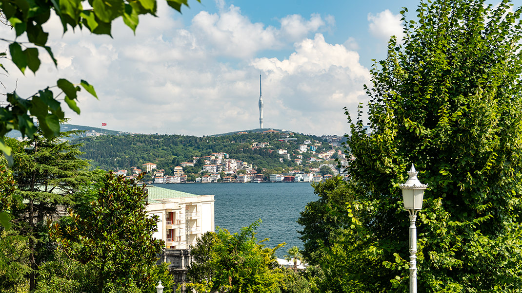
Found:
[{"label": "bright yellow-green leafy tree at bottom, just right of white building", "polygon": [[257,243],[255,228],[258,220],[241,233],[231,235],[218,227],[207,232],[192,250],[193,263],[188,270],[189,288],[198,292],[277,292],[281,281],[274,268],[274,249]]}]

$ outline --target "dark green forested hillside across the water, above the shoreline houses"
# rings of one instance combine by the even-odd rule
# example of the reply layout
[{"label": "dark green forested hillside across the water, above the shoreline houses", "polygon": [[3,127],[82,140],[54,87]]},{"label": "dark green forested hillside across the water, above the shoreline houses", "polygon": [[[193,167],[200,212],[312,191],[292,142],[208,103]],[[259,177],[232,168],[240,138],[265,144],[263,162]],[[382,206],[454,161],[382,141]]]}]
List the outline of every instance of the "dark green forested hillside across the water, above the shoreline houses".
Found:
[{"label": "dark green forested hillside across the water, above the shoreline houses", "polygon": [[[279,141],[281,138],[290,138],[289,141]],[[91,164],[104,170],[138,168],[143,163],[152,162],[158,169],[167,173],[181,162],[192,161],[193,157],[209,156],[212,152],[226,152],[230,158],[253,163],[257,168],[274,169],[277,167],[298,167],[290,160],[280,162],[277,149],[287,149],[289,154],[296,153],[299,145],[311,140],[321,145],[317,151],[331,149],[323,143],[321,137],[301,134],[285,133],[248,133],[218,137],[197,137],[185,135],[103,135],[98,137],[82,137],[74,143],[81,143],[80,148],[85,152],[84,158],[92,160]],[[253,143],[269,143],[264,148],[252,148]],[[303,154],[303,159],[310,155]]]}]

